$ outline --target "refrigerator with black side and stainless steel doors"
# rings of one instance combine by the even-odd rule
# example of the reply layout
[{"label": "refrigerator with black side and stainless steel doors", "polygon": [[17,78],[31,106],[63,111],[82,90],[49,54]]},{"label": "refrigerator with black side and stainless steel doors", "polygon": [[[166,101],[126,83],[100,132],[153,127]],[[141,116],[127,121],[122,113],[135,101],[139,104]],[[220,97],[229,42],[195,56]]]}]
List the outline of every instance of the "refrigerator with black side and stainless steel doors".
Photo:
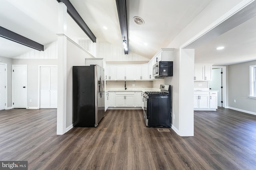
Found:
[{"label": "refrigerator with black side and stainless steel doors", "polygon": [[104,68],[73,66],[73,126],[97,127],[105,115]]}]

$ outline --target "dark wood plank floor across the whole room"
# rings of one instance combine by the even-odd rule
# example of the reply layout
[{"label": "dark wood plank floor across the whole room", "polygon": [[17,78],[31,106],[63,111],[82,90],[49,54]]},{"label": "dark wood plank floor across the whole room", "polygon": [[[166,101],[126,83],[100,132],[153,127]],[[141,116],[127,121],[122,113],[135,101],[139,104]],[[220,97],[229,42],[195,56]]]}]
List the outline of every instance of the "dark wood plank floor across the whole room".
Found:
[{"label": "dark wood plank floor across the whole room", "polygon": [[110,110],[97,128],[56,135],[56,109],[0,111],[0,160],[29,170],[256,170],[256,116],[194,112],[194,137],[147,128],[142,110]]}]

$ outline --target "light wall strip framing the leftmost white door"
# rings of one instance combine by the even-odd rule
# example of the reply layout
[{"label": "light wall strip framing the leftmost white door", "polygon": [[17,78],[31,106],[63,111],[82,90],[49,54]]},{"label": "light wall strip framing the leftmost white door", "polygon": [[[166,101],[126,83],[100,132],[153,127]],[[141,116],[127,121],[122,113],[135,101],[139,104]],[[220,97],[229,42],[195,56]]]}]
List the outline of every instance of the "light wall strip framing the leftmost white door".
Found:
[{"label": "light wall strip framing the leftmost white door", "polygon": [[12,107],[12,59],[0,56],[0,60],[7,64],[7,107]]}]

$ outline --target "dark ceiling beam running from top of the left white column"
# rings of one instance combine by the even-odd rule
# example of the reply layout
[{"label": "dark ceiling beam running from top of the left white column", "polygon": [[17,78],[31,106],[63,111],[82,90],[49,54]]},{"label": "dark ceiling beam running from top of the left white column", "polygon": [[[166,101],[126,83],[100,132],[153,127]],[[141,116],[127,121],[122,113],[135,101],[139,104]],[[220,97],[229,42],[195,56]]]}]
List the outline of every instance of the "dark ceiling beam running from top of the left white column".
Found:
[{"label": "dark ceiling beam running from top of the left white column", "polygon": [[86,35],[92,40],[92,42],[96,43],[96,37],[90,30],[90,28],[86,25],[82,17],[78,14],[74,6],[71,4],[69,0],[57,0],[58,2],[63,2],[68,9],[68,14],[73,18],[73,20],[77,23],[77,25],[86,33]]}]

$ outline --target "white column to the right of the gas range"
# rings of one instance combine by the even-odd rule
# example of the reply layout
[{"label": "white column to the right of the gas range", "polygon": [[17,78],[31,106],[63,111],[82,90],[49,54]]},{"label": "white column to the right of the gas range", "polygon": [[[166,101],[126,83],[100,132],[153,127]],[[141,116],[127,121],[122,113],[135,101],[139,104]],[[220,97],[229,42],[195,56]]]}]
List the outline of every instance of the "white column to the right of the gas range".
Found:
[{"label": "white column to the right of the gas range", "polygon": [[194,136],[194,49],[180,49],[179,135]]}]

